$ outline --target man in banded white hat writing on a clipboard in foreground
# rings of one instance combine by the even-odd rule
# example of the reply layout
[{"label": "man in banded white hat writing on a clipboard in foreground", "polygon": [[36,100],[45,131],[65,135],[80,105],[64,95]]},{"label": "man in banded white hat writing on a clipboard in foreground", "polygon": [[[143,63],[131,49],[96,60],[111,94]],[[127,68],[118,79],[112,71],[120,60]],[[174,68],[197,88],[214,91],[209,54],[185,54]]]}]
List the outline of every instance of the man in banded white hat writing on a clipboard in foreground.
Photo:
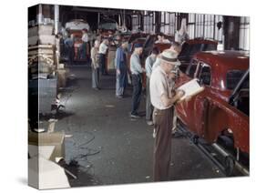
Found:
[{"label": "man in banded white hat writing on a clipboard in foreground", "polygon": [[177,52],[165,50],[161,53],[160,64],[150,77],[150,96],[154,107],[153,122],[156,130],[154,147],[154,180],[169,180],[171,150],[171,128],[174,104],[184,95],[184,91],[171,92],[174,84],[169,74],[180,65]]}]

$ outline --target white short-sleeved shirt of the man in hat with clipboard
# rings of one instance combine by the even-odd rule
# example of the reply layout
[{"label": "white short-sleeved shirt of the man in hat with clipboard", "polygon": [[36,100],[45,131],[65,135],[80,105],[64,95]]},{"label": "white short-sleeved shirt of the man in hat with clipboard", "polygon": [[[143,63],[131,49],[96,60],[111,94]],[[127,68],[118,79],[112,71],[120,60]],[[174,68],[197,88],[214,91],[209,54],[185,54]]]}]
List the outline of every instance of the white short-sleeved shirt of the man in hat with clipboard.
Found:
[{"label": "white short-sleeved shirt of the man in hat with clipboard", "polygon": [[149,85],[151,104],[154,107],[163,110],[172,106],[165,107],[161,101],[162,95],[169,96],[170,85],[173,84],[169,82],[167,74],[162,70],[161,66],[156,66],[151,74]]}]

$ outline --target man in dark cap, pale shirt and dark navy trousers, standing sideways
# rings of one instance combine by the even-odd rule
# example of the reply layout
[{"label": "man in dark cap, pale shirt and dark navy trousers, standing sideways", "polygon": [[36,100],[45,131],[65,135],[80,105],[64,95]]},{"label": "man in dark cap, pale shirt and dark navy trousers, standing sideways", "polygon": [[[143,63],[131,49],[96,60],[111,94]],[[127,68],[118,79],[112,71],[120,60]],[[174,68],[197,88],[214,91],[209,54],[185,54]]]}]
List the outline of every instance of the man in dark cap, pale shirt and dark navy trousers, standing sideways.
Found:
[{"label": "man in dark cap, pale shirt and dark navy trousers, standing sideways", "polygon": [[141,67],[139,58],[143,51],[142,45],[136,44],[134,47],[134,52],[130,56],[130,72],[133,86],[130,117],[138,118],[138,107],[142,91],[142,72],[145,72],[145,69]]}]

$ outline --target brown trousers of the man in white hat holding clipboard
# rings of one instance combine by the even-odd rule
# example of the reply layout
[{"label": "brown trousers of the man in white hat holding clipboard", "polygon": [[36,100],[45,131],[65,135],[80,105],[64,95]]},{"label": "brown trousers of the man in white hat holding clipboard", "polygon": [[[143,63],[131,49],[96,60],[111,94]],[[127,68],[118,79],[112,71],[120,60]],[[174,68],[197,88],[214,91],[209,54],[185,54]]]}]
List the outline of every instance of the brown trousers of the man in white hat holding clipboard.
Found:
[{"label": "brown trousers of the man in white hat holding clipboard", "polygon": [[167,181],[169,180],[173,107],[165,110],[155,108],[153,122],[156,129],[153,168],[154,181]]}]

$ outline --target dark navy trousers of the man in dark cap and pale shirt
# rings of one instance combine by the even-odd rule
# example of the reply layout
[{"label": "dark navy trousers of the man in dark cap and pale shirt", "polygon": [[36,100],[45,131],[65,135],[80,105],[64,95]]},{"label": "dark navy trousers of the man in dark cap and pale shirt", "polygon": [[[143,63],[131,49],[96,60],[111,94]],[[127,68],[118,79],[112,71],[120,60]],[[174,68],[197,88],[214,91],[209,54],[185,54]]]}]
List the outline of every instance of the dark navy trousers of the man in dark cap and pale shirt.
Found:
[{"label": "dark navy trousers of the man in dark cap and pale shirt", "polygon": [[138,107],[142,90],[142,77],[140,75],[131,75],[131,81],[133,86],[131,115],[138,115]]}]

